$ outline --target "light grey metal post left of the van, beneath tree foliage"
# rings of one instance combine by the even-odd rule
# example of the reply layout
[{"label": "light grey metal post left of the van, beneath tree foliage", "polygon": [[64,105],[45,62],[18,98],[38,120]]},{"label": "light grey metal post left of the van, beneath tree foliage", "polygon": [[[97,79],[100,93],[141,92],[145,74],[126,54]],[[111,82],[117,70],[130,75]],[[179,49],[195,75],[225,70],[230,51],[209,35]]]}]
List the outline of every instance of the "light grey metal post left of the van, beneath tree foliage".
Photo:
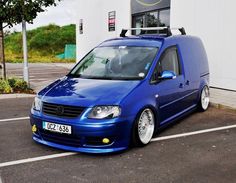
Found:
[{"label": "light grey metal post left of the van, beneath tree foliage", "polygon": [[23,55],[24,55],[24,81],[29,83],[29,67],[28,67],[28,50],[27,50],[27,36],[26,36],[26,22],[22,20],[22,36],[23,36]]}]

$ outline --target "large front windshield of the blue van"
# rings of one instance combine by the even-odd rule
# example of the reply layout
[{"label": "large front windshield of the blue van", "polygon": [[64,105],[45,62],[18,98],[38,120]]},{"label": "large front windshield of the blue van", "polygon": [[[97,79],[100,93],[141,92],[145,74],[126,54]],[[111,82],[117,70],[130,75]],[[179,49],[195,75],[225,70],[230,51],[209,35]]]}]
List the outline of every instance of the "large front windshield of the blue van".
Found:
[{"label": "large front windshield of the blue van", "polygon": [[155,47],[99,47],[71,71],[70,76],[91,79],[143,79],[152,64]]}]

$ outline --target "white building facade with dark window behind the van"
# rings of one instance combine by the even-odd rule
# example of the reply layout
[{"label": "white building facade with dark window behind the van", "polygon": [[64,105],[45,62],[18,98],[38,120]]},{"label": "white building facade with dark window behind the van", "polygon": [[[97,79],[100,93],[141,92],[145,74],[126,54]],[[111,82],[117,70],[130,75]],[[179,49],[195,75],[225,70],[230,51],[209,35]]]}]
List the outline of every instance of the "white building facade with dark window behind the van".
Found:
[{"label": "white building facade with dark window behind the van", "polygon": [[234,0],[78,0],[77,61],[100,42],[119,37],[122,28],[184,27],[204,42],[210,85],[236,91],[234,7]]}]

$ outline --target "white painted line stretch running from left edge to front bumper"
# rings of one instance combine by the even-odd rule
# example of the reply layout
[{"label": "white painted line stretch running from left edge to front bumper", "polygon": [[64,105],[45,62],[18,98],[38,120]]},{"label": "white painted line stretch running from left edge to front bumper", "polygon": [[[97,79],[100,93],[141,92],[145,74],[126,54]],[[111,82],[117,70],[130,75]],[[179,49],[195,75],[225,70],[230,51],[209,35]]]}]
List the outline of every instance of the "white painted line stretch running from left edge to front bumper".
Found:
[{"label": "white painted line stretch running from left edge to front bumper", "polygon": [[59,154],[52,154],[52,155],[47,155],[47,156],[39,156],[36,158],[27,158],[27,159],[22,159],[22,160],[16,160],[16,161],[9,161],[5,163],[0,163],[0,168],[2,167],[7,167],[7,166],[12,166],[12,165],[19,165],[23,163],[31,163],[35,161],[42,161],[42,160],[47,160],[47,159],[54,159],[54,158],[60,158],[60,157],[65,157],[65,156],[72,156],[77,153],[74,152],[66,152],[66,153],[59,153]]}]

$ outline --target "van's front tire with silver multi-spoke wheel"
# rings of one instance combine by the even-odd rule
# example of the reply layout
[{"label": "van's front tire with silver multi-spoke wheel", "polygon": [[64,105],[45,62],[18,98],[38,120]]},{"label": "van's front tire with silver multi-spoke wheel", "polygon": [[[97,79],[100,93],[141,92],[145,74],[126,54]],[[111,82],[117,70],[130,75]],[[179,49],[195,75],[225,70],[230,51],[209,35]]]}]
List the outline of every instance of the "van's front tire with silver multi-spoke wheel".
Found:
[{"label": "van's front tire with silver multi-spoke wheel", "polygon": [[155,116],[151,109],[142,110],[135,120],[132,129],[132,145],[143,147],[147,145],[155,131]]}]

